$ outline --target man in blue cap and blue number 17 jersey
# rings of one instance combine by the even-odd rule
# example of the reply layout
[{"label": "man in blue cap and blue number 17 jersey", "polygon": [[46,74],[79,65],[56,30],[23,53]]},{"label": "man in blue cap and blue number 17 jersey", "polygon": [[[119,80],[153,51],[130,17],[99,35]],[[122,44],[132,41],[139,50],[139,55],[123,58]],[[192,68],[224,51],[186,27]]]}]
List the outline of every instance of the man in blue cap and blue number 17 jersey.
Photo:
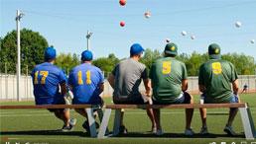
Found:
[{"label": "man in blue cap and blue number 17 jersey", "polygon": [[[66,77],[64,72],[54,65],[56,49],[48,47],[45,50],[45,62],[37,65],[31,76],[33,78],[36,105],[64,105],[66,94]],[[60,93],[61,86],[61,93]],[[68,108],[52,108],[55,115],[64,121],[63,131],[70,131],[76,119],[70,119]]]}]

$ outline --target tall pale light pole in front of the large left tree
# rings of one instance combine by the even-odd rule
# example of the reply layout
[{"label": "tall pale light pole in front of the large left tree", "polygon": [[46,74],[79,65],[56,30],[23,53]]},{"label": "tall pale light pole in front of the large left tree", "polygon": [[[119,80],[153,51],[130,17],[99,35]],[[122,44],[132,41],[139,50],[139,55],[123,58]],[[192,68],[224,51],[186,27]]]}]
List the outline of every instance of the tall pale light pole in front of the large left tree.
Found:
[{"label": "tall pale light pole in front of the large left tree", "polygon": [[17,16],[15,18],[16,21],[16,27],[17,27],[17,101],[21,101],[20,96],[20,82],[21,82],[21,37],[20,37],[20,21],[21,18],[24,16],[23,13],[20,12],[20,10],[17,10]]}]

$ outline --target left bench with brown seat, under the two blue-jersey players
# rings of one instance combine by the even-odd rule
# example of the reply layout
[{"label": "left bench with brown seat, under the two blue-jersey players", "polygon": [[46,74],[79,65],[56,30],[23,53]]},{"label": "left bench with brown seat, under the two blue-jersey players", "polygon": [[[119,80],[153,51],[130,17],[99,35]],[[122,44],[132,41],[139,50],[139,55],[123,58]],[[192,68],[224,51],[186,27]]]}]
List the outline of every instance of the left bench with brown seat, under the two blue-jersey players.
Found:
[{"label": "left bench with brown seat, under the two blue-jersey players", "polygon": [[85,108],[87,112],[90,136],[97,137],[96,124],[93,115],[93,111],[96,109],[99,115],[100,121],[103,118],[102,108],[91,106],[91,105],[37,105],[37,106],[1,106],[0,109],[35,109],[35,108]]}]

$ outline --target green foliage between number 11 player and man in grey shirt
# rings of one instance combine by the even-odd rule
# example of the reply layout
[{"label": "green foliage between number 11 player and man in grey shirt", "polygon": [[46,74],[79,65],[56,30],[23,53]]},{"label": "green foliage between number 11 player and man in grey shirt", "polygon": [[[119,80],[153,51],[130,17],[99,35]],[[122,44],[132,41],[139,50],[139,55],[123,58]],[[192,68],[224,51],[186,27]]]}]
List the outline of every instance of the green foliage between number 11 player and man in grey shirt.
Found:
[{"label": "green foliage between number 11 player and man in grey shirt", "polygon": [[100,57],[93,60],[92,64],[104,71],[104,76],[107,77],[118,62],[119,59],[115,56],[115,54],[111,53],[108,55],[108,57]]}]

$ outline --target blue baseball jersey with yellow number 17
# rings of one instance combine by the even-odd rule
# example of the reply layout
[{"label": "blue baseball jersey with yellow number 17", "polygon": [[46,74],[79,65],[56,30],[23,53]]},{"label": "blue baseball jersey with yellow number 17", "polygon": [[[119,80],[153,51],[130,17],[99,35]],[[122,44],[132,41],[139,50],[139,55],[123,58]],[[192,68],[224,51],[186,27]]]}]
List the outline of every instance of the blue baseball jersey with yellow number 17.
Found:
[{"label": "blue baseball jersey with yellow number 17", "polygon": [[60,85],[66,83],[66,76],[62,69],[45,62],[37,65],[31,76],[36,105],[59,104],[64,100],[64,96],[60,93]]}]

